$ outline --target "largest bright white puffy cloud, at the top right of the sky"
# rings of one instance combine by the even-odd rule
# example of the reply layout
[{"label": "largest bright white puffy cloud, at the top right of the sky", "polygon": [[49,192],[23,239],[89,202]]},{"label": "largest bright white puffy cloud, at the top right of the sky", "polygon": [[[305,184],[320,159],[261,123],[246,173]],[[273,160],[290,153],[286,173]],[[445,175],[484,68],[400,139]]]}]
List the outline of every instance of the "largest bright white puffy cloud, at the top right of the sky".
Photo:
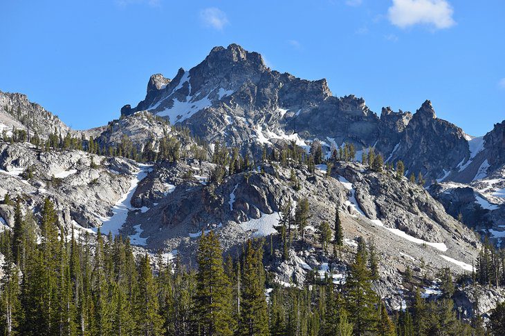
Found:
[{"label": "largest bright white puffy cloud, at the top right of the sky", "polygon": [[447,0],[393,0],[387,12],[389,21],[400,28],[424,24],[443,29],[456,23]]}]

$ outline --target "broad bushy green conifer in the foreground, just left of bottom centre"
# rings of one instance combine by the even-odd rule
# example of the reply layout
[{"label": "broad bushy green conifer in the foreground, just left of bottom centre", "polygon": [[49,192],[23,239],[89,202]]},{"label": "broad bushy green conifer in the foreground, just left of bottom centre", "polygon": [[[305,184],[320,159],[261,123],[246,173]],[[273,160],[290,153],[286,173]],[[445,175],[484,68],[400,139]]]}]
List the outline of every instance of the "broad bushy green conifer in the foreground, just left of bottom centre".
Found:
[{"label": "broad bushy green conifer in the foreground, just left of bottom centre", "polygon": [[219,240],[211,231],[201,235],[198,250],[199,273],[196,306],[201,335],[232,335],[231,291],[224,273]]}]

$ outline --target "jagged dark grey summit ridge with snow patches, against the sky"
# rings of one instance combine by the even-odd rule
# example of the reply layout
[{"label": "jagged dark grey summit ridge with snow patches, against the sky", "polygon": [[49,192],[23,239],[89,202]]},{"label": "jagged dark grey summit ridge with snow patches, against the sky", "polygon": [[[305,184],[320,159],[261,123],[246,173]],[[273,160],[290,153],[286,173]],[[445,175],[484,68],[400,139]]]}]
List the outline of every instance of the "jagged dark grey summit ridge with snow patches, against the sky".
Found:
[{"label": "jagged dark grey summit ridge with snow patches, against the sky", "polygon": [[465,133],[437,118],[430,101],[414,115],[385,108],[379,118],[364,99],[334,97],[325,79],[306,81],[270,70],[261,55],[236,44],[213,48],[172,80],[154,75],[145,100],[121,112],[140,110],[187,126],[196,137],[256,155],[263,146],[288,141],[309,146],[315,139],[327,152],[345,142],[358,154],[375,147],[389,162],[403,160],[428,184],[448,177],[472,155]]}]

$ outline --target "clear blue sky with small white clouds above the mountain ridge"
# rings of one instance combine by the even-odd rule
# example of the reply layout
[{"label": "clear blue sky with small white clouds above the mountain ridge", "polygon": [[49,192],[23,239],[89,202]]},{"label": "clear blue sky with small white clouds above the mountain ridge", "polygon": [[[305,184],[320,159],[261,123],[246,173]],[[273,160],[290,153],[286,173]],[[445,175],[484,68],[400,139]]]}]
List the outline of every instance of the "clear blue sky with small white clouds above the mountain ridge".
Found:
[{"label": "clear blue sky with small white clouds above the mountain ridge", "polygon": [[0,90],[76,129],[106,124],[213,46],[326,78],[333,95],[438,117],[470,135],[505,119],[503,0],[0,0]]}]

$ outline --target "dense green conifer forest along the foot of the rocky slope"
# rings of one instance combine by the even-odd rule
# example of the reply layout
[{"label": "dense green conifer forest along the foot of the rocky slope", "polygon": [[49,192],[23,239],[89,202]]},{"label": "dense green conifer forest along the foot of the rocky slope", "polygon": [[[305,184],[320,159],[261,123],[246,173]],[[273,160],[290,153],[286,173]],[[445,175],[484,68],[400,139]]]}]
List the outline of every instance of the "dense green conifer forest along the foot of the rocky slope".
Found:
[{"label": "dense green conifer forest along the foot of the rocky slope", "polygon": [[[407,307],[389,315],[371,286],[379,262],[373,240],[358,239],[346,281],[313,271],[304,284],[279,285],[263,264],[277,255],[272,240],[249,240],[223,257],[217,235],[203,234],[195,270],[178,257],[172,264],[160,254],[136,255],[129,239],[100,230],[68,232],[50,199],[39,220],[28,209],[23,215],[19,200],[10,204],[15,226],[0,235],[5,335],[484,335],[477,319],[470,326],[457,318],[449,270],[440,275],[441,298],[423,299],[414,287]],[[293,239],[303,239],[296,225],[303,226],[308,207],[301,200],[282,210],[275,250],[283,259]],[[321,224],[324,250],[330,243],[342,248],[341,225],[338,211],[333,226]],[[498,306],[488,331],[503,335],[504,318]]]}]

